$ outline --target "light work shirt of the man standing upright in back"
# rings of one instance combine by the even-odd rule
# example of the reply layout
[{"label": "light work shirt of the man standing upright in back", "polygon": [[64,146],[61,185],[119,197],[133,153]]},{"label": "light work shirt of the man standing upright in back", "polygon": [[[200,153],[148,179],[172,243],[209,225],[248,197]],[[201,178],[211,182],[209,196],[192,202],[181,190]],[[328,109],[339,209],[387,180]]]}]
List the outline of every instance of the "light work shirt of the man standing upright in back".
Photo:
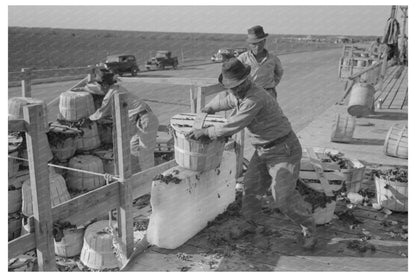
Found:
[{"label": "light work shirt of the man standing upright in back", "polygon": [[251,51],[247,51],[238,56],[238,59],[251,67],[250,76],[259,87],[265,89],[275,88],[282,79],[283,67],[280,59],[270,54],[266,49],[266,56],[259,63]]}]

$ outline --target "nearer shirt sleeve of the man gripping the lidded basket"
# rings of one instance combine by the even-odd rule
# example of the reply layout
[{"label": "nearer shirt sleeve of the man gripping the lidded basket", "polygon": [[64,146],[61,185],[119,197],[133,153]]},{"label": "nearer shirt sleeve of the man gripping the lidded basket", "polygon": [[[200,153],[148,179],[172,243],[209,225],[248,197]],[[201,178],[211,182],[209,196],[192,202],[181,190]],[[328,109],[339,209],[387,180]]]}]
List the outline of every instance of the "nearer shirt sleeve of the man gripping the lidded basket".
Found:
[{"label": "nearer shirt sleeve of the man gripping the lidded basket", "polygon": [[228,137],[239,132],[253,121],[261,109],[262,105],[259,102],[251,99],[245,100],[240,105],[237,114],[230,117],[227,123],[209,127],[208,136],[211,139],[217,139],[219,137]]}]

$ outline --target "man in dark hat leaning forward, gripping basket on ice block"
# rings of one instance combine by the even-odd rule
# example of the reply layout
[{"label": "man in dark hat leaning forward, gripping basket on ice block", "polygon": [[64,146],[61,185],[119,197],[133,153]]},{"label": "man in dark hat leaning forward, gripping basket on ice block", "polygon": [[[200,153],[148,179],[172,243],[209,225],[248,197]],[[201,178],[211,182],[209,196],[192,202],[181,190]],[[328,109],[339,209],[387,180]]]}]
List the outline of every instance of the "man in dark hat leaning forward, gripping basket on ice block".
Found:
[{"label": "man in dark hat leaning forward, gripping basket on ice block", "polygon": [[252,82],[250,66],[232,58],[222,65],[219,82],[227,89],[206,105],[202,112],[215,113],[235,109],[227,123],[205,129],[194,129],[188,137],[211,139],[231,136],[247,127],[255,148],[244,176],[242,215],[256,225],[261,212],[258,195],[271,188],[277,207],[302,228],[306,249],[315,246],[315,220],[306,203],[295,189],[299,177],[302,147],[291,124],[277,101]]}]

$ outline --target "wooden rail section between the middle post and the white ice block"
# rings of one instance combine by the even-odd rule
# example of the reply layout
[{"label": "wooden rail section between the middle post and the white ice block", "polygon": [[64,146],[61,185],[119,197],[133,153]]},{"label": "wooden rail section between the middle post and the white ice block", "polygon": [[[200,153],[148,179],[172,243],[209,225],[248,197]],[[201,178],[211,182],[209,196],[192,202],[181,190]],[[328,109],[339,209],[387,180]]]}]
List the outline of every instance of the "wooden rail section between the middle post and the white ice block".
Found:
[{"label": "wooden rail section between the middle post and the white ice block", "polygon": [[133,199],[136,199],[144,194],[150,193],[152,189],[151,183],[152,183],[153,178],[156,175],[161,174],[165,172],[166,170],[168,170],[169,168],[172,168],[177,165],[178,164],[176,163],[175,160],[170,160],[166,163],[146,169],[144,171],[138,172],[134,174],[133,176],[131,176]]}]

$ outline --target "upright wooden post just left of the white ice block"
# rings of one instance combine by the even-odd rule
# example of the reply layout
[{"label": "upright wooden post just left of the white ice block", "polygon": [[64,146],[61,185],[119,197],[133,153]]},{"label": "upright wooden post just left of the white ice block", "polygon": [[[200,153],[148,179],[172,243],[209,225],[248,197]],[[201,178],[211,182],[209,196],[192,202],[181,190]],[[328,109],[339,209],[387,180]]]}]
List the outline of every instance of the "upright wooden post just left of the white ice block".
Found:
[{"label": "upright wooden post just left of the white ice block", "polygon": [[[123,253],[128,258],[133,253],[133,214],[132,214],[132,189],[131,189],[131,165],[130,165],[130,122],[127,113],[127,94],[116,93],[114,95],[114,113],[116,141],[114,142],[114,154],[116,172],[120,182],[120,207],[117,209],[118,235],[121,237]],[[125,262],[125,261],[123,261]]]}]

